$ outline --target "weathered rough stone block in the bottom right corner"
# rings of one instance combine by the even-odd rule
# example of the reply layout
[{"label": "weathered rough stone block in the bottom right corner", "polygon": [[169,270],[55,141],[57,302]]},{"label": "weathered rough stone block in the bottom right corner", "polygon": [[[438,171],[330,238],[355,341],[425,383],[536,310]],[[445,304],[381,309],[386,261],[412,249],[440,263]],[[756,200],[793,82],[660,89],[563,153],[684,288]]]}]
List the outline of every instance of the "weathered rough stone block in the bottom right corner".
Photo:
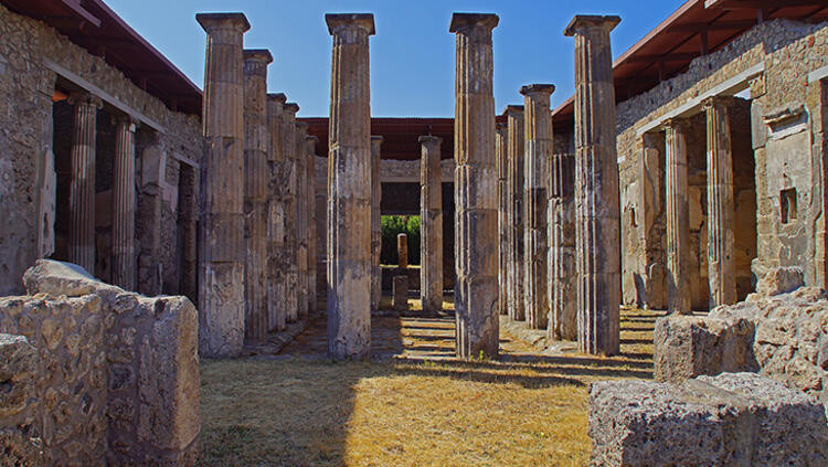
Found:
[{"label": "weathered rough stone block in the bottom right corner", "polygon": [[590,437],[595,466],[828,463],[822,407],[754,373],[700,376],[680,385],[594,383]]}]

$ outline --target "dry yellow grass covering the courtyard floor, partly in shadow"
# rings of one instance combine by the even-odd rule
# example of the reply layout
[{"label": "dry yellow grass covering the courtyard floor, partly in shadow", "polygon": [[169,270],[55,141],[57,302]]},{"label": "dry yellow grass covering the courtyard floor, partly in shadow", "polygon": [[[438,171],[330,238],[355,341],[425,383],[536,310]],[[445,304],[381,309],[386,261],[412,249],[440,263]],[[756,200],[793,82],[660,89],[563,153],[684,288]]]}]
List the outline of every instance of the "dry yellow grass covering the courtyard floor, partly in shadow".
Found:
[{"label": "dry yellow grass covering the courtyard floor, partly in shadow", "polygon": [[[201,465],[584,465],[588,383],[649,378],[652,319],[625,312],[614,359],[506,337],[498,362],[205,361]],[[411,329],[406,346],[433,341]]]}]

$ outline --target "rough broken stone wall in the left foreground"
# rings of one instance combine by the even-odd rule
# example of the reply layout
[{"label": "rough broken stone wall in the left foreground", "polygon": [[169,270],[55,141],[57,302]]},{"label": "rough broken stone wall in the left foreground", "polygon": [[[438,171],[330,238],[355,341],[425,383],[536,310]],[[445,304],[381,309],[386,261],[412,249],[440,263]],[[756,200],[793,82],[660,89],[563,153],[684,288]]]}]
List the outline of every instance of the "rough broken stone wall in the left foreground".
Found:
[{"label": "rough broken stone wall in the left foreground", "polygon": [[192,465],[201,426],[193,305],[51,261],[24,283],[29,296],[0,298],[0,332],[36,349],[28,410],[44,464]]}]

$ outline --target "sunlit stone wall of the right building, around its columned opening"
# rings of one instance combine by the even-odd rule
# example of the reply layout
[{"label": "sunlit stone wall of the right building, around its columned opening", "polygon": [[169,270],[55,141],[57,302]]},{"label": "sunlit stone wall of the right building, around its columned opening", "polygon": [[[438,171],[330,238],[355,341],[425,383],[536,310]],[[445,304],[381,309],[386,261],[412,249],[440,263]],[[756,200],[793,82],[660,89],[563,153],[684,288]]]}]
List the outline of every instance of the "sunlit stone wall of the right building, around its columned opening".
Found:
[{"label": "sunlit stone wall of the right building, around its columned opening", "polygon": [[[664,151],[648,158],[645,140],[647,131],[659,132],[656,124],[662,118],[680,116],[690,118],[691,128],[692,301],[697,309],[707,306],[705,130],[699,99],[716,86],[725,94],[745,89],[747,94],[740,95],[750,97],[750,102],[737,99],[731,114],[739,298],[775,266],[799,266],[806,284],[825,286],[820,259],[825,238],[819,234],[824,231],[824,222],[819,222],[825,204],[819,161],[825,137],[817,121],[822,115],[822,92],[820,83],[809,82],[808,73],[826,65],[827,23],[774,20],[694,60],[686,73],[618,104],[625,303],[659,308],[662,301],[658,284],[666,264],[659,229],[664,187],[658,181],[664,179]],[[733,82],[737,76],[742,82]],[[810,147],[809,141],[814,141]],[[656,183],[648,177],[654,173],[660,174]],[[785,190],[795,190],[787,195],[798,201],[798,209],[796,219],[783,222],[781,192]]]}]

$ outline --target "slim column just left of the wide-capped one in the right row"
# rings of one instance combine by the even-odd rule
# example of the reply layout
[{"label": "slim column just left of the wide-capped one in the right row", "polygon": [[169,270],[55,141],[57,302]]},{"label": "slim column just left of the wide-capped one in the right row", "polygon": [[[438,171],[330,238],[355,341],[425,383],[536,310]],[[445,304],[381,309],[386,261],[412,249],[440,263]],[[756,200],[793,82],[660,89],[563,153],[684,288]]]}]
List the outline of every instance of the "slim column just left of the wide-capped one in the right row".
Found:
[{"label": "slim column just left of the wide-capped one in the right row", "polygon": [[506,202],[508,205],[507,222],[507,312],[513,321],[526,319],[523,294],[523,177],[524,163],[524,126],[523,106],[510,105],[503,114],[507,118],[506,136]]}]

